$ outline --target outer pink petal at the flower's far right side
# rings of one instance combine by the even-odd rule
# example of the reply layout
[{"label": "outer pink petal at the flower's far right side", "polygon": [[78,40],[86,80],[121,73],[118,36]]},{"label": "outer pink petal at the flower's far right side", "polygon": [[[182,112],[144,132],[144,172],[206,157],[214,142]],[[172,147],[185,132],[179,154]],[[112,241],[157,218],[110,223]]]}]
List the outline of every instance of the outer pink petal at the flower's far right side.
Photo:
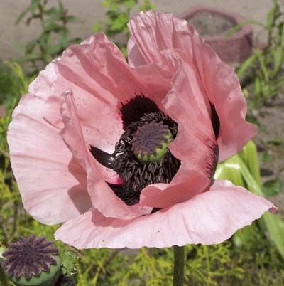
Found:
[{"label": "outer pink petal at the flower's far right side", "polygon": [[190,26],[193,35],[193,56],[209,101],[216,108],[220,120],[217,139],[219,161],[233,156],[256,134],[257,127],[246,122],[246,99],[241,92],[239,79],[213,49],[204,43],[197,31]]}]

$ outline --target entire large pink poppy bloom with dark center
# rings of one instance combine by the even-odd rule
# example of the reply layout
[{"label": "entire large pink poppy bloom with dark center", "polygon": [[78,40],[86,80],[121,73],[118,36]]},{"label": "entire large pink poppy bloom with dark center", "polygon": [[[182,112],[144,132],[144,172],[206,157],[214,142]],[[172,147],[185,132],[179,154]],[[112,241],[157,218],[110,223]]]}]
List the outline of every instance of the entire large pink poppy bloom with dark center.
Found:
[{"label": "entire large pink poppy bloom with dark center", "polygon": [[274,206],[217,161],[256,133],[234,70],[193,26],[141,12],[129,63],[99,33],[70,46],[30,85],[9,126],[28,213],[64,223],[76,248],[221,243]]}]

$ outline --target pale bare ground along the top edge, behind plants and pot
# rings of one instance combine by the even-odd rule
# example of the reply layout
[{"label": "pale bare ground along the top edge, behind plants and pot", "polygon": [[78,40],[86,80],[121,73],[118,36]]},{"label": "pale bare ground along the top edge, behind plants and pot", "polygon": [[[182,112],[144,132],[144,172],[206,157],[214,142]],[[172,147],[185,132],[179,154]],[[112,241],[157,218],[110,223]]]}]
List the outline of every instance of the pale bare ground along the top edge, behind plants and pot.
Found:
[{"label": "pale bare ground along the top edge, behind plants and pot", "polygon": [[[104,20],[102,0],[62,0],[70,14],[77,16],[80,21],[72,24],[71,36],[85,38],[92,31],[91,27],[97,21]],[[33,22],[30,28],[24,23],[16,26],[14,22],[18,14],[28,5],[29,0],[1,0],[0,1],[0,58],[6,60],[21,55],[12,43],[27,43],[35,38],[40,27]],[[246,18],[265,21],[265,16],[271,7],[272,0],[151,0],[158,11],[180,14],[194,5],[208,5],[238,12]],[[56,0],[50,0],[55,4]]]}]

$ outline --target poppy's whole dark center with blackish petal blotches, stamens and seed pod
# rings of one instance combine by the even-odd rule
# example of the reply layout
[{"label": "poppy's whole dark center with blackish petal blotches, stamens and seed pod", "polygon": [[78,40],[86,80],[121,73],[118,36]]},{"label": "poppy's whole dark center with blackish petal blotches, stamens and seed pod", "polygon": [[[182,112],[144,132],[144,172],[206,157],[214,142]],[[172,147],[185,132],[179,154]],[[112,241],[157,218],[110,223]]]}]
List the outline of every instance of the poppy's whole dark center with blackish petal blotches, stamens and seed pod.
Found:
[{"label": "poppy's whole dark center with blackish petal blotches, stamens and seed pod", "polygon": [[[137,95],[121,107],[124,134],[121,135],[113,154],[91,147],[95,159],[116,171],[123,184],[109,184],[116,196],[127,205],[138,203],[141,191],[149,184],[170,183],[180,160],[171,154],[168,145],[178,133],[178,124],[161,112],[155,102]],[[212,105],[212,127],[219,135],[219,117]],[[212,166],[208,164],[208,176],[216,168],[218,147],[212,147]],[[209,166],[210,165],[210,166]]]}]

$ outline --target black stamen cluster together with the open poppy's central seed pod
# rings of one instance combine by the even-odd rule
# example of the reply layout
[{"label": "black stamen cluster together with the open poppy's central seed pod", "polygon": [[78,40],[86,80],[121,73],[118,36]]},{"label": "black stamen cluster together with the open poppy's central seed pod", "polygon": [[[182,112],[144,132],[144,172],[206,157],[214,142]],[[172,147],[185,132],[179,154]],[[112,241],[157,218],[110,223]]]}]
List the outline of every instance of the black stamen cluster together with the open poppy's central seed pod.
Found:
[{"label": "black stamen cluster together with the open poppy's central seed pod", "polygon": [[[156,137],[153,131],[156,131]],[[145,113],[140,120],[126,127],[114,153],[111,155],[111,167],[119,174],[124,184],[110,184],[115,194],[126,204],[138,203],[140,193],[149,184],[170,183],[178,169],[180,160],[176,159],[168,149],[167,134],[173,139],[178,133],[178,125],[163,112]],[[146,138],[146,135],[150,137]],[[153,140],[152,140],[153,139]],[[163,154],[155,157],[159,147],[166,144]],[[152,153],[153,152],[153,153]],[[146,160],[139,159],[139,154],[149,156]],[[154,156],[155,159],[151,159]]]}]

